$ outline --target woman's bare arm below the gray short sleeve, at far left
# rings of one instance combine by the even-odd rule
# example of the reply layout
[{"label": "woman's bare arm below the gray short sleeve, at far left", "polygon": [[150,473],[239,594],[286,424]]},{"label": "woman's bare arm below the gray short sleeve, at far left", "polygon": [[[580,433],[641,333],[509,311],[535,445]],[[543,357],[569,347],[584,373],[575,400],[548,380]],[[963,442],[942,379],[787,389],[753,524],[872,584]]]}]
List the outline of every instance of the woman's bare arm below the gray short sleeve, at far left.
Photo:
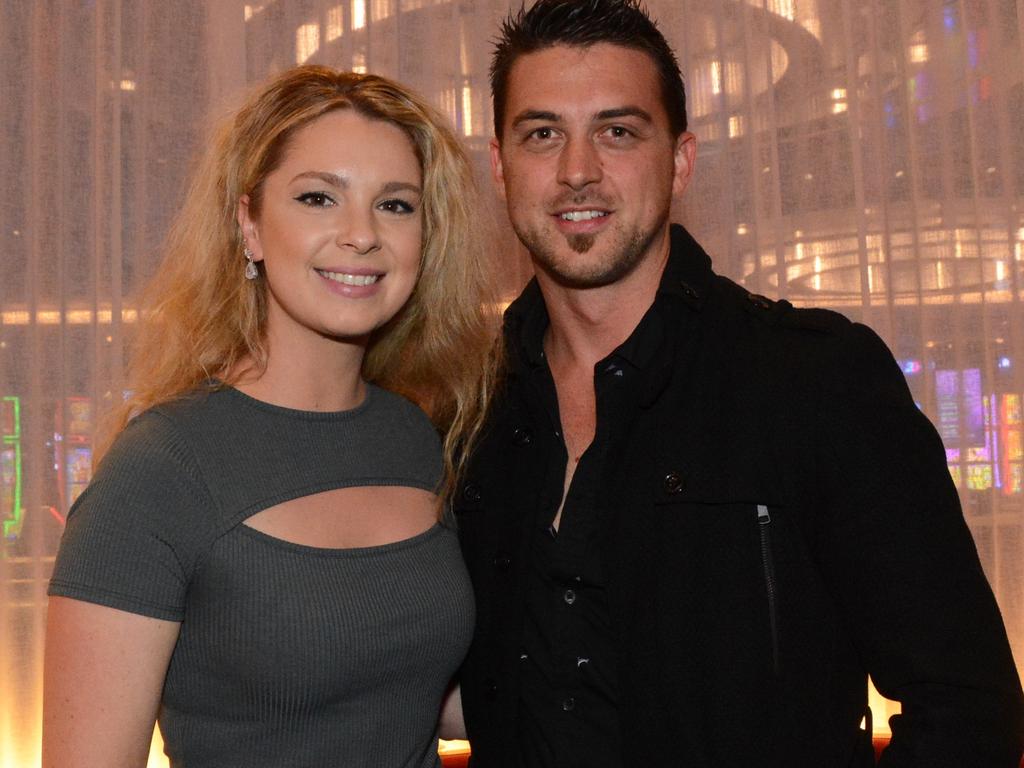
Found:
[{"label": "woman's bare arm below the gray short sleeve, at far left", "polygon": [[179,624],[51,597],[43,768],[140,768]]}]

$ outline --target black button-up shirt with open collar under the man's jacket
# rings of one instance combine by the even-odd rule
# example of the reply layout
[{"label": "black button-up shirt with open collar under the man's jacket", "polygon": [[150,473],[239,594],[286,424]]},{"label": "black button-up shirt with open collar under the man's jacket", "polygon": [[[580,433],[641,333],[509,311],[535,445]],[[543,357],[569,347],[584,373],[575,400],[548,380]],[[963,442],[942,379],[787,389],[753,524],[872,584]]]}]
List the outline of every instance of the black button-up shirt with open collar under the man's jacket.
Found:
[{"label": "black button-up shirt with open collar under the man's jacket", "polygon": [[519,339],[530,362],[529,396],[550,429],[542,430],[547,438],[542,436],[537,446],[544,452],[546,471],[538,478],[541,493],[530,534],[517,762],[522,768],[618,768],[623,734],[600,554],[611,510],[599,488],[643,391],[645,370],[663,345],[665,323],[655,300],[630,338],[595,366],[594,441],[579,458],[557,531],[552,521],[570,459],[544,355],[547,326],[542,305],[523,324]]}]

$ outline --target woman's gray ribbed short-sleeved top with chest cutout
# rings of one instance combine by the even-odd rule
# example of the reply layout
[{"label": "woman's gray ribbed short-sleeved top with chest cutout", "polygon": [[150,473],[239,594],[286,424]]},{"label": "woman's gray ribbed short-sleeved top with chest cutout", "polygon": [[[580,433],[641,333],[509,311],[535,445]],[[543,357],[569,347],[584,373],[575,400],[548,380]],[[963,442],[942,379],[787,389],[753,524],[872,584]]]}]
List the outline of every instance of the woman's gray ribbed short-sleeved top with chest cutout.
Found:
[{"label": "woman's gray ribbed short-sleeved top with chest cutout", "polygon": [[321,549],[240,523],[439,476],[430,422],[385,390],[329,414],[197,394],[119,437],[69,513],[50,594],[181,622],[160,714],[176,768],[437,766],[473,622],[454,534]]}]

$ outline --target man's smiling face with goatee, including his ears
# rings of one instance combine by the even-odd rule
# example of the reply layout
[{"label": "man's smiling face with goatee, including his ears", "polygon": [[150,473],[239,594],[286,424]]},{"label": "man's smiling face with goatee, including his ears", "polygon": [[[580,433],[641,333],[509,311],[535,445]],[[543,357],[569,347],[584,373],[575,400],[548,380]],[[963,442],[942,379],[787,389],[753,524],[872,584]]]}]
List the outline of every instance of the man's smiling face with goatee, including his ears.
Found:
[{"label": "man's smiling face with goatee, including his ears", "polygon": [[505,115],[492,168],[539,269],[597,287],[668,252],[669,210],[689,180],[695,140],[672,136],[646,53],[598,43],[523,55]]}]

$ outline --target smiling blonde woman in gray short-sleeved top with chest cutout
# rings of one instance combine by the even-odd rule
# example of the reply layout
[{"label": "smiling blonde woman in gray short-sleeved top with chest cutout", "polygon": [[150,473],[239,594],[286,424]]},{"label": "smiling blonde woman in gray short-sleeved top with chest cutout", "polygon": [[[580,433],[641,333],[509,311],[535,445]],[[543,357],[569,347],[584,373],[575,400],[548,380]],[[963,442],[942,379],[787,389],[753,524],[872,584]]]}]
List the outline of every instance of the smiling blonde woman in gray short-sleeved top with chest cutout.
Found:
[{"label": "smiling blonde woman in gray short-sleeved top with chest cutout", "polygon": [[158,712],[173,766],[438,765],[473,620],[439,499],[493,378],[471,187],[379,77],[292,70],[221,130],[69,514],[44,766],[144,765]]}]

